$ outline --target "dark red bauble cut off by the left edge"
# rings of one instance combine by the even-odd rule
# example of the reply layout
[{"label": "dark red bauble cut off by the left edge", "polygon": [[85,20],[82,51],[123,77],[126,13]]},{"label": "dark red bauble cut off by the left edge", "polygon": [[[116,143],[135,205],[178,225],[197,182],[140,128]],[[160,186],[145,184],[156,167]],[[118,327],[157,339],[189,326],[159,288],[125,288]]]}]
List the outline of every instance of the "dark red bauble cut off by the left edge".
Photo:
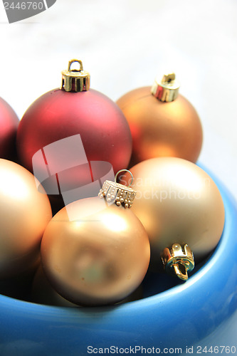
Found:
[{"label": "dark red bauble cut off by the left edge", "polygon": [[0,158],[15,159],[16,156],[16,130],[19,118],[6,103],[0,98]]}]

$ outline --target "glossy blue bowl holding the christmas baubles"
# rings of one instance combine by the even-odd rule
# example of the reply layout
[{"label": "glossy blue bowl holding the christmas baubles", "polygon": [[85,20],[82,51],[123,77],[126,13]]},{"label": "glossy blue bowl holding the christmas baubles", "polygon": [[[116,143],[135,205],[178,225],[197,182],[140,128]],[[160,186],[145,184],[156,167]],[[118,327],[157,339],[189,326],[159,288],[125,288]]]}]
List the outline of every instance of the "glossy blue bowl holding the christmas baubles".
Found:
[{"label": "glossy blue bowl holding the christmas baubles", "polygon": [[[237,207],[214,180],[223,197],[226,223],[214,253],[189,281],[161,293],[156,283],[153,289],[149,283],[146,298],[106,308],[52,307],[0,295],[0,355],[140,355],[145,350],[169,355],[168,349],[170,354],[175,348],[186,353],[186,347],[209,340],[211,346],[218,345],[216,330],[221,335],[223,328],[227,335],[226,320],[237,315]],[[235,350],[233,346],[231,353]]]}]

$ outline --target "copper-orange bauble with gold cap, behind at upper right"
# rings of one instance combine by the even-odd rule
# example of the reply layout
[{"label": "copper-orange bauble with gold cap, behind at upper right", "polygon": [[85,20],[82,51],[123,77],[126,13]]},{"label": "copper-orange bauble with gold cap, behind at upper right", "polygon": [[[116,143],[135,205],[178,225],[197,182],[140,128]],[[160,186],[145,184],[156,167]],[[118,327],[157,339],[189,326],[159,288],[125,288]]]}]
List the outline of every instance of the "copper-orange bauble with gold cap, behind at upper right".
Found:
[{"label": "copper-orange bauble with gold cap, behind at upper right", "polygon": [[202,144],[199,116],[179,94],[174,73],[150,87],[132,90],[117,100],[132,133],[131,165],[154,157],[196,162]]}]

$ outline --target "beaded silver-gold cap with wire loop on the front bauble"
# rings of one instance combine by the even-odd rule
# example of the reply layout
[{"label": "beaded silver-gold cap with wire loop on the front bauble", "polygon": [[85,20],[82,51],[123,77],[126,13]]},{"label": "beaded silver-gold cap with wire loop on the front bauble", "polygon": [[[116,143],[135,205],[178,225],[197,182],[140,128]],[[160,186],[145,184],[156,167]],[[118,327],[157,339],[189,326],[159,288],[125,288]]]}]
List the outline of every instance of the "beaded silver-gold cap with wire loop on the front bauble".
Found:
[{"label": "beaded silver-gold cap with wire loop on the front bauble", "polygon": [[100,189],[98,196],[100,198],[105,198],[108,203],[115,202],[117,206],[122,205],[125,208],[130,208],[136,197],[137,192],[130,188],[132,182],[128,187],[116,182],[117,175],[121,172],[129,172],[132,176],[132,173],[129,170],[121,169],[115,175],[115,182],[112,182],[110,180],[105,181],[105,183],[102,185],[102,188]]}]

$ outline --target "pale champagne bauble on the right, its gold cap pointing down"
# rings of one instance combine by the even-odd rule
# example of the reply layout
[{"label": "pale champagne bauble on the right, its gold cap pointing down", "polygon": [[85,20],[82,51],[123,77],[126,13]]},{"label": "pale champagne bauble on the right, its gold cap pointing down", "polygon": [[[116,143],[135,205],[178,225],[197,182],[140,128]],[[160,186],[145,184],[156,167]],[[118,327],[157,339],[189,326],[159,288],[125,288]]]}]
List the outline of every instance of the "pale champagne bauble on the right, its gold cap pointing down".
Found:
[{"label": "pale champagne bauble on the right, its gold cap pointing down", "polygon": [[[194,267],[191,251],[201,261],[221,238],[225,212],[216,184],[196,164],[176,157],[147,159],[131,172],[133,211],[149,235],[153,268],[162,253],[166,269],[186,279]],[[123,179],[129,182],[127,175]]]}]

